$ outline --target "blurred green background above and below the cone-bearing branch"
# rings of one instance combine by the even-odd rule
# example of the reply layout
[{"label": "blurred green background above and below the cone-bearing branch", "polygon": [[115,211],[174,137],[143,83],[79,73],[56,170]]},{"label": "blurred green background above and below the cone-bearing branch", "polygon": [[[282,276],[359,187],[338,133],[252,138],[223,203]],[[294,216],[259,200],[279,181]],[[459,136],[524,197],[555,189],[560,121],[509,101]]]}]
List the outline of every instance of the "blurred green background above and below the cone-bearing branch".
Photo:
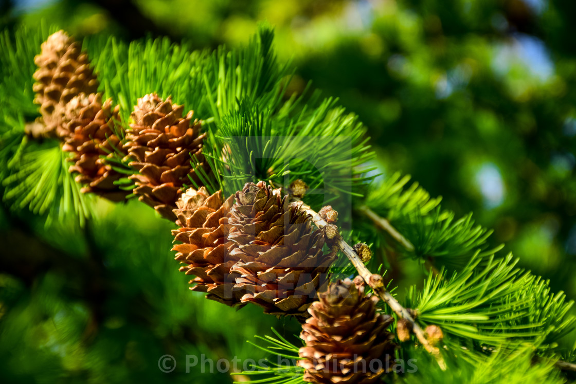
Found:
[{"label": "blurred green background above and below the cone-bearing branch", "polygon": [[[279,58],[297,69],[290,90],[312,81],[358,113],[384,177],[411,174],[457,216],[473,211],[494,244],[576,298],[576,2],[0,4],[4,28],[47,20],[77,37],[169,36],[196,48],[246,43],[269,21]],[[257,360],[264,352],[245,342],[254,334],[298,333],[188,292],[168,251],[171,225],[149,208],[96,204],[98,224],[58,233],[3,207],[0,372],[10,382],[230,382],[186,374],[184,356]],[[165,353],[179,363],[170,374],[157,366]]]}]

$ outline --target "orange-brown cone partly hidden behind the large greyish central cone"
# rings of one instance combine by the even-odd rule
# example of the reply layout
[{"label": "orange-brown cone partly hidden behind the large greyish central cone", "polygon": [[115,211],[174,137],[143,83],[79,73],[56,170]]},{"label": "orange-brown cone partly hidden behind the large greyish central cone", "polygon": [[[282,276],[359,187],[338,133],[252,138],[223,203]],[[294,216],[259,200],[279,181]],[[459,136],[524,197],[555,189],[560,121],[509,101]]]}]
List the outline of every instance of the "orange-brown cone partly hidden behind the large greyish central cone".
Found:
[{"label": "orange-brown cone partly hidden behind the large greyish central cone", "polygon": [[181,228],[173,230],[175,241],[183,244],[175,245],[176,260],[185,265],[180,271],[187,275],[195,275],[190,284],[192,291],[207,292],[207,298],[224,303],[237,305],[240,297],[232,293],[234,277],[230,268],[235,260],[228,257],[230,246],[228,233],[233,229],[228,223],[230,208],[234,204],[234,196],[222,199],[222,191],[209,195],[206,188],[198,191],[189,188],[176,201],[176,224]]}]

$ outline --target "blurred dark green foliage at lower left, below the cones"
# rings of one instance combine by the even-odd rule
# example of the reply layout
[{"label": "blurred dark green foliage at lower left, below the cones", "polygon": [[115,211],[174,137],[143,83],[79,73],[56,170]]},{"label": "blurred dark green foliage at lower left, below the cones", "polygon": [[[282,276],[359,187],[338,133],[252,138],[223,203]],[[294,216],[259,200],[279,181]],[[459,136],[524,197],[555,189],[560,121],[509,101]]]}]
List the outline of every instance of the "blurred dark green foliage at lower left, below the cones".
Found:
[{"label": "blurred dark green foliage at lower left, below the cones", "polygon": [[[210,384],[232,382],[229,372],[203,372],[200,358],[237,357],[244,362],[259,350],[246,343],[259,329],[281,324],[256,307],[240,311],[187,289],[170,251],[173,224],[158,219],[138,201],[100,206],[85,229],[31,229],[45,237],[41,256],[53,268],[33,287],[0,274],[0,370],[7,382]],[[154,241],[142,241],[150,234]],[[60,242],[69,246],[67,251]],[[166,246],[168,244],[168,246]],[[72,245],[72,246],[70,246]],[[50,250],[57,246],[59,251]],[[33,255],[10,250],[3,260]],[[70,253],[69,253],[69,252]],[[52,252],[52,254],[50,253]],[[251,318],[249,324],[246,318]],[[225,320],[225,321],[224,321]],[[242,324],[242,326],[231,326]],[[293,331],[295,332],[295,330]],[[176,369],[158,368],[163,355]],[[186,371],[186,356],[199,363]],[[32,358],[33,357],[33,358]],[[257,359],[256,359],[257,360]]]}]

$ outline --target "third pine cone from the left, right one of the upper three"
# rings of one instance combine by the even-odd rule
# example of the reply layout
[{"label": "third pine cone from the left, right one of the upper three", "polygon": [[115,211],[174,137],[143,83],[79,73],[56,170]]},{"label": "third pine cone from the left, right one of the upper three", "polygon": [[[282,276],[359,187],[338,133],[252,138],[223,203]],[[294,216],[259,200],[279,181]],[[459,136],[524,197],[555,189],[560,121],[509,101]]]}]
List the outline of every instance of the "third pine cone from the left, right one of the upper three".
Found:
[{"label": "third pine cone from the left, right one of the upper three", "polygon": [[154,93],[138,99],[124,145],[130,165],[140,172],[130,177],[137,186],[133,192],[170,220],[176,220],[172,211],[181,188],[190,183],[188,176],[200,181],[190,165],[191,155],[204,161],[200,122],[191,121],[193,111],[182,117],[183,110],[170,98],[163,101]]}]

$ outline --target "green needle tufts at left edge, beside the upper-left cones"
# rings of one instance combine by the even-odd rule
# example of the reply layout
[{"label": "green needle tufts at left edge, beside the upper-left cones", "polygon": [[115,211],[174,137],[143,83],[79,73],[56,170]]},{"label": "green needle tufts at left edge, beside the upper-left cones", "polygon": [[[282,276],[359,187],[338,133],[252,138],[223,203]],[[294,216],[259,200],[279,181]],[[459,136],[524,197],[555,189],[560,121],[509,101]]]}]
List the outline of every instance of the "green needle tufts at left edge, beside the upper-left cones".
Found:
[{"label": "green needle tufts at left edge, beside the upper-left cones", "polygon": [[68,172],[68,155],[54,140],[37,143],[24,134],[26,120],[39,115],[33,102],[34,56],[54,31],[55,27],[41,24],[0,35],[0,190],[14,211],[28,208],[47,214],[47,225],[75,218],[83,226],[90,216],[90,197],[80,192],[81,186]]}]

